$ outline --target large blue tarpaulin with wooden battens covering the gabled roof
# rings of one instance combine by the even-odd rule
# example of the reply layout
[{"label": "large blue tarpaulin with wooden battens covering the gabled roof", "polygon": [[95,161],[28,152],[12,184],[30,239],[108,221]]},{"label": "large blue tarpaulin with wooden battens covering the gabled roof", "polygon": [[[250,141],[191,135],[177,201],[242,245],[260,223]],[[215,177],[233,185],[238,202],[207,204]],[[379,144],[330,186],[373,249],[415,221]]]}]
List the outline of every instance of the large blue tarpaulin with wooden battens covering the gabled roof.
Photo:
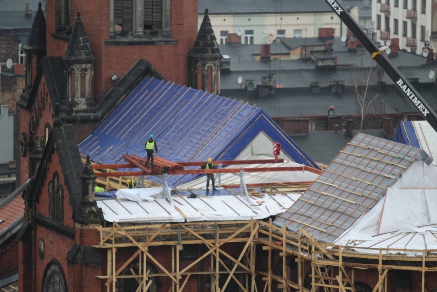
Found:
[{"label": "large blue tarpaulin with wooden battens covering the gabled roof", "polygon": [[[169,161],[233,160],[261,132],[281,143],[294,162],[319,168],[262,109],[152,77],[138,84],[79,149],[99,164],[124,163],[124,154],[146,157],[144,144],[153,134],[156,155]],[[169,185],[195,177],[170,176]]]}]

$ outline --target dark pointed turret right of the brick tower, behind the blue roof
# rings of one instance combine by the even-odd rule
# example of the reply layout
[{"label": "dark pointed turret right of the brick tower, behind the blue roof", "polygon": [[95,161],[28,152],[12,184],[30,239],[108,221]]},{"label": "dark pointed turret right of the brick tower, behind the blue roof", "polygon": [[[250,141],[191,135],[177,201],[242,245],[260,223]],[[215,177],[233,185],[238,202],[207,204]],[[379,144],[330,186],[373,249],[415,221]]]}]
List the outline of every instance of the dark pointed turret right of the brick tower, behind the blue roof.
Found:
[{"label": "dark pointed turret right of the brick tower, behind the blue roof", "polygon": [[[214,94],[220,93],[221,59],[222,54],[211,26],[208,9],[205,9],[205,16],[189,54],[192,87]],[[202,75],[201,78],[199,74]]]}]

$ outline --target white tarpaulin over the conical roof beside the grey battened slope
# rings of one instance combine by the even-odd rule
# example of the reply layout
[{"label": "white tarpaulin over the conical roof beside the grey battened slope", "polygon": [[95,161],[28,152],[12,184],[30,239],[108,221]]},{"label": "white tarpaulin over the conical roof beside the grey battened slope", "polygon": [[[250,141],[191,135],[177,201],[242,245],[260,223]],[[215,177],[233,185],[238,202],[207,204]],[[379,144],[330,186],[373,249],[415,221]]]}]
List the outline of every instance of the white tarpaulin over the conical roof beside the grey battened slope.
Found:
[{"label": "white tarpaulin over the conical roof beside the grey battened slope", "polygon": [[390,248],[389,253],[410,256],[422,253],[405,249],[437,250],[436,177],[435,164],[413,162],[400,179],[387,188],[384,199],[334,243],[355,246],[353,249],[362,252],[378,253],[380,247]]}]

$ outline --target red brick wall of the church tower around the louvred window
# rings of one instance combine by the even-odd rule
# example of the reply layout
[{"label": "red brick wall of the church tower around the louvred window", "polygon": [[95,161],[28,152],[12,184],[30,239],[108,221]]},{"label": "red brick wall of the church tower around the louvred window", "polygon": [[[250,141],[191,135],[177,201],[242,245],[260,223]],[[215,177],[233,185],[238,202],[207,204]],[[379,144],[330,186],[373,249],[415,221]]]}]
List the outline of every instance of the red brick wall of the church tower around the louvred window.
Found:
[{"label": "red brick wall of the church tower around the louvred window", "polygon": [[[109,40],[109,1],[72,1],[73,27],[77,10],[81,10],[81,18],[96,57],[94,96],[97,100],[112,87],[111,76],[122,76],[140,57],[150,62],[167,80],[189,85],[188,53],[197,34],[197,0],[171,2],[171,33],[178,40],[176,45],[105,45],[105,40]],[[47,55],[63,56],[67,42],[50,35],[55,31],[55,17],[49,16],[56,15],[55,11],[55,1],[48,0]]]}]

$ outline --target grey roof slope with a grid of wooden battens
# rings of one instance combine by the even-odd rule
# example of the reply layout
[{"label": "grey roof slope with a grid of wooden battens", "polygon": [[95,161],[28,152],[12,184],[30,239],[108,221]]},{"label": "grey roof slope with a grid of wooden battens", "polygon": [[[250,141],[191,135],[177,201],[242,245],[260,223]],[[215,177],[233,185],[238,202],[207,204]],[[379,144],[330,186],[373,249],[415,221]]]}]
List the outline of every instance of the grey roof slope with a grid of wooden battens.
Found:
[{"label": "grey roof slope with a grid of wooden battens", "polygon": [[430,163],[421,149],[359,133],[275,225],[332,243],[385,194],[415,160]]}]

